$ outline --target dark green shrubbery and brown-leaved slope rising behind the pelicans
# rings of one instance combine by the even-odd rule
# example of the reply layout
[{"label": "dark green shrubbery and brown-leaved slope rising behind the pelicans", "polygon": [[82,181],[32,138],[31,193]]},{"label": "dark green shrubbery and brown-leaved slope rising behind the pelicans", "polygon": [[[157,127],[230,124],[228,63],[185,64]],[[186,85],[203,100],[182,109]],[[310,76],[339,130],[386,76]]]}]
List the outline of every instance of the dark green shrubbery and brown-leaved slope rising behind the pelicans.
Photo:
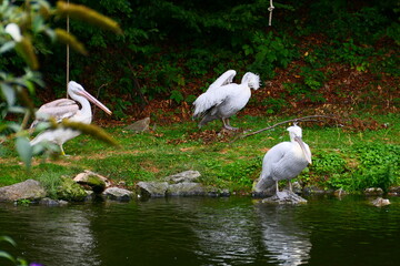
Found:
[{"label": "dark green shrubbery and brown-leaved slope rising behind the pelicans", "polygon": [[[76,2],[113,18],[123,29],[123,35],[113,35],[71,22],[71,30],[90,51],[89,57],[72,52],[71,79],[101,88],[102,98],[110,99],[118,117],[132,104],[143,106],[154,98],[191,102],[194,96],[188,88],[192,82],[201,79],[206,89],[206,81],[229,68],[258,72],[266,81],[277,68],[303,60],[306,64],[298,71],[301,79],[286,86],[289,94],[300,93],[312,102],[324,102],[320,90],[329,73],[320,69],[332,62],[359,71],[399,74],[399,58],[390,50],[398,48],[381,45],[400,42],[394,0],[274,1],[272,27],[268,25],[269,0]],[[64,27],[64,21],[53,22]],[[299,45],[300,40],[311,37],[323,41]],[[64,49],[40,48],[48,90],[61,96]],[[3,68],[11,64],[18,66],[14,58],[0,62]],[[44,93],[50,92],[38,92]],[[282,102],[273,104],[270,112],[282,106]]]}]

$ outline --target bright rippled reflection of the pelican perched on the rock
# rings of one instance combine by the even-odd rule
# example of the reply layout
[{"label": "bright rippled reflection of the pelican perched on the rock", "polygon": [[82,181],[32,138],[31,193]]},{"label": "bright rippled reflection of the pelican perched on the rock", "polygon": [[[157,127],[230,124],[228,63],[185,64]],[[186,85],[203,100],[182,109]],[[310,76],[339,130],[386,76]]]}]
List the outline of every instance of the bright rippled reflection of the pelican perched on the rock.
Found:
[{"label": "bright rippled reflection of the pelican perched on the rock", "polygon": [[298,218],[302,206],[256,204],[262,228],[262,241],[268,250],[268,260],[278,265],[301,265],[310,258],[309,229]]}]

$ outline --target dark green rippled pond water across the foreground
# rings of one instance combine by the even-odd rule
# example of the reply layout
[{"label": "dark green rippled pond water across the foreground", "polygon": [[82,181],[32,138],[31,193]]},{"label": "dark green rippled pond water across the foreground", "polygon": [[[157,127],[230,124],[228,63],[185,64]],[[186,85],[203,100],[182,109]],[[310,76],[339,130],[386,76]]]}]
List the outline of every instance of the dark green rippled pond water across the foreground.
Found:
[{"label": "dark green rippled pond water across the foreground", "polygon": [[0,235],[18,243],[0,249],[46,266],[400,265],[400,197],[386,207],[357,196],[308,200],[0,204]]}]

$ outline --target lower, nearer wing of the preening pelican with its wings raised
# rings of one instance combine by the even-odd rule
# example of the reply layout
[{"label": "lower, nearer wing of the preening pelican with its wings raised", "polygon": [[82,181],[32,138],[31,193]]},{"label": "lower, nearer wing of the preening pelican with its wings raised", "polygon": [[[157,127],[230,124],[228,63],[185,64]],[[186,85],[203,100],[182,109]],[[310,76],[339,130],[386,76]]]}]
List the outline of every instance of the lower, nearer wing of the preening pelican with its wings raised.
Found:
[{"label": "lower, nearer wing of the preening pelican with its wings raised", "polygon": [[210,109],[216,108],[227,101],[227,99],[231,96],[232,92],[234,92],[234,88],[237,86],[238,84],[228,84],[220,86],[218,90],[210,90],[201,94],[193,102],[193,119],[202,116]]}]

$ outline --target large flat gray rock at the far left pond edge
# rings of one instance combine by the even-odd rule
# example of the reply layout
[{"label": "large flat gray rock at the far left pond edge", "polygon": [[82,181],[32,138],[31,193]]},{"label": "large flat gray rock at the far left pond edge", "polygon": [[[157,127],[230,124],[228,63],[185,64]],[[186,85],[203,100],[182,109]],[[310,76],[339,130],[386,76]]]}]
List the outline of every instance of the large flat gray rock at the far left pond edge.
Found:
[{"label": "large flat gray rock at the far left pond edge", "polygon": [[34,201],[44,197],[46,194],[44,188],[38,181],[27,180],[18,184],[0,187],[0,202]]}]

